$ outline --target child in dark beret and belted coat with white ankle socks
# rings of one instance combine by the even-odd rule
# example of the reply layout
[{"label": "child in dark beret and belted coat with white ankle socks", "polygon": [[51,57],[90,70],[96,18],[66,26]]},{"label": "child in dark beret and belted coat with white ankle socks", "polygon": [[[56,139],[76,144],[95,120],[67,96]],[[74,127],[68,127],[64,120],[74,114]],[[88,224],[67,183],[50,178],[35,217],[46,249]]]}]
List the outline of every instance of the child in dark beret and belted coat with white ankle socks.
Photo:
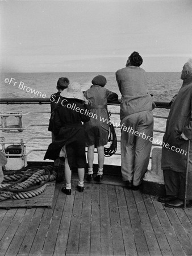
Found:
[{"label": "child in dark beret and belted coat with white ankle socks", "polygon": [[92,115],[90,121],[84,125],[86,146],[88,147],[88,175],[86,180],[93,180],[94,148],[97,147],[98,172],[94,180],[100,182],[103,178],[104,146],[108,142],[109,131],[107,100],[118,100],[118,94],[104,88],[107,83],[104,76],[98,75],[91,82],[90,89],[84,93],[84,96],[89,101],[90,114]]}]

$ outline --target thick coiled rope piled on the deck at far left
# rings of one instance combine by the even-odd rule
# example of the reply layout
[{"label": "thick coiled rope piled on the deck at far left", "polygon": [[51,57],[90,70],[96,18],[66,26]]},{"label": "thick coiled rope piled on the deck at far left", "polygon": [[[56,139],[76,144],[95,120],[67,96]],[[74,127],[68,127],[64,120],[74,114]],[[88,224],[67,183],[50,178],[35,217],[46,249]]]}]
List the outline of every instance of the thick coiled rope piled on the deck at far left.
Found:
[{"label": "thick coiled rope piled on the deck at far left", "polygon": [[0,184],[0,201],[38,196],[45,191],[47,182],[55,179],[56,172],[53,172],[52,166],[6,171],[3,182]]}]

